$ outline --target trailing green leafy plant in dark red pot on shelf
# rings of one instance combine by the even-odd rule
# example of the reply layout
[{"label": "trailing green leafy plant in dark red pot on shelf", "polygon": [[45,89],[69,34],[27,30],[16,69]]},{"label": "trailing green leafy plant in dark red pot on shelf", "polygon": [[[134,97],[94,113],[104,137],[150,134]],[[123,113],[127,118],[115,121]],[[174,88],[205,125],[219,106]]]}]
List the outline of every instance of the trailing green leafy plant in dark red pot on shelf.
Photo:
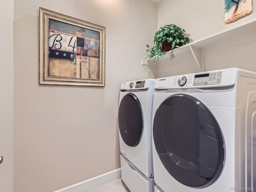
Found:
[{"label": "trailing green leafy plant in dark red pot on shelf", "polygon": [[[167,51],[170,51],[170,60],[174,58],[173,50],[180,46],[188,44],[190,39],[185,37],[186,31],[175,24],[164,25],[155,33],[154,46],[147,45],[148,58],[160,60]],[[146,59],[148,59],[146,58]]]}]

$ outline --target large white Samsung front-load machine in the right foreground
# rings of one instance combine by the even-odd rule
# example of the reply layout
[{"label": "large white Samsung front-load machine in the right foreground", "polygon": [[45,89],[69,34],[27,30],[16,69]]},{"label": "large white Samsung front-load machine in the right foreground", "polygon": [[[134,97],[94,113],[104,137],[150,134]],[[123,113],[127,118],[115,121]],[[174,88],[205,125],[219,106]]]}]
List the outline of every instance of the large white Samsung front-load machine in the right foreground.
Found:
[{"label": "large white Samsung front-load machine in the right foreground", "polygon": [[153,117],[154,179],[161,190],[254,191],[255,72],[230,68],[156,79]]}]

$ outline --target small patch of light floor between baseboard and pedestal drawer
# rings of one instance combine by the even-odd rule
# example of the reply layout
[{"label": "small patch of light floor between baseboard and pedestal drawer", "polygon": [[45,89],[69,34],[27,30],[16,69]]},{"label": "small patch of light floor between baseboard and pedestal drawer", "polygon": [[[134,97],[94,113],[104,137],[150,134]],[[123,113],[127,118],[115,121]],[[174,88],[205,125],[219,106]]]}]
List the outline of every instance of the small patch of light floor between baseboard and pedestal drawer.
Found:
[{"label": "small patch of light floor between baseboard and pedestal drawer", "polygon": [[92,189],[88,192],[130,192],[121,179],[114,180],[110,183]]}]

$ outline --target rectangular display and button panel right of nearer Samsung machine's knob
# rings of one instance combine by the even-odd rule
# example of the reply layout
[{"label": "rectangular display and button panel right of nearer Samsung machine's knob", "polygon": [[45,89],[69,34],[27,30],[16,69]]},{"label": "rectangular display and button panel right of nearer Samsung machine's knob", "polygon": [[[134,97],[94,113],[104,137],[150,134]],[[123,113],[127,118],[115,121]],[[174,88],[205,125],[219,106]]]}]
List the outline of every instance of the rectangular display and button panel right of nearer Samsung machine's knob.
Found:
[{"label": "rectangular display and button panel right of nearer Samsung machine's knob", "polygon": [[193,86],[218,85],[221,82],[221,75],[222,72],[195,75]]}]

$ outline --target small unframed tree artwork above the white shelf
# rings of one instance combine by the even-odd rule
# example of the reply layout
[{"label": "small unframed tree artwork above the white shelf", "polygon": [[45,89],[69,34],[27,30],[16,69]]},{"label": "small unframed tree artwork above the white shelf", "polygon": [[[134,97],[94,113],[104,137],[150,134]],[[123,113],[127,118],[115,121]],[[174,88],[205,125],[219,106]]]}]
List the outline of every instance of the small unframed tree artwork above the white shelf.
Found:
[{"label": "small unframed tree artwork above the white shelf", "polygon": [[225,0],[225,23],[252,12],[252,0]]}]

